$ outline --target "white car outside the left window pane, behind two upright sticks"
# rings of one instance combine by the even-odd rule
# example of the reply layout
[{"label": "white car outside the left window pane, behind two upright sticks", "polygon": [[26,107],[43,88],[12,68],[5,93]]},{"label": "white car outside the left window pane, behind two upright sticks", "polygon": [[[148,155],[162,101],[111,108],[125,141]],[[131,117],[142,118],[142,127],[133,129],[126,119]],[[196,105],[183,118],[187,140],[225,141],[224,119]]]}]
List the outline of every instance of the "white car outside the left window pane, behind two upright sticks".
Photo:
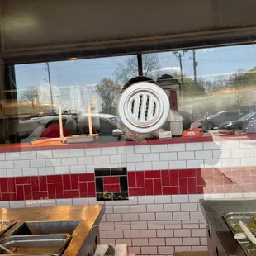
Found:
[{"label": "white car outside the left window pane, behind two upright sticks", "polygon": [[[63,115],[64,136],[88,134],[88,115],[72,116]],[[117,141],[112,135],[117,127],[117,118],[112,115],[92,114],[92,130],[97,133],[98,142]],[[59,136],[59,116],[31,117],[29,120],[19,121],[18,132],[15,136],[18,140],[28,142],[40,138],[55,138]],[[13,139],[12,139],[13,140]]]}]

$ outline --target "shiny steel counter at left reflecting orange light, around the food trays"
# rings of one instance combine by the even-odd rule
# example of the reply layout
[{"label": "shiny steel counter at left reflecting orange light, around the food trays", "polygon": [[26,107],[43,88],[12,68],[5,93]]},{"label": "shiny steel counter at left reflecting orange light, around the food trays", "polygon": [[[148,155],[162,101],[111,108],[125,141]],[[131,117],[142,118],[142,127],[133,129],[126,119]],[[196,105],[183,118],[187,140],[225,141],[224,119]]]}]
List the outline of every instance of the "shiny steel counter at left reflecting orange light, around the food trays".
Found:
[{"label": "shiny steel counter at left reflecting orange light, around the food trays", "polygon": [[[81,220],[73,238],[63,256],[91,256],[92,226],[98,225],[105,212],[105,206],[52,206],[35,208],[18,208],[0,210],[0,220],[50,221],[50,220]],[[18,224],[18,223],[17,223]],[[15,228],[15,226],[13,227]],[[12,230],[12,229],[11,229]],[[8,232],[11,232],[7,231]],[[95,233],[93,231],[93,233]],[[98,233],[98,230],[97,230]],[[93,239],[95,242],[95,239]],[[97,237],[99,241],[99,237]]]}]

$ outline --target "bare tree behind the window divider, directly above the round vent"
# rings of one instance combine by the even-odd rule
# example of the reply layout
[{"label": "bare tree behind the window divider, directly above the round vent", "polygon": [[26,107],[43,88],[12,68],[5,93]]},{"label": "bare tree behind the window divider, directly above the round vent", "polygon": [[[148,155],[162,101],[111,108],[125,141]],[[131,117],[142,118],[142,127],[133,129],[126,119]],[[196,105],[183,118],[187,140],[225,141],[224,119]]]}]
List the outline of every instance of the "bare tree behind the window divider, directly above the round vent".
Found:
[{"label": "bare tree behind the window divider, directly above the round vent", "polygon": [[[155,71],[159,69],[159,58],[156,54],[149,54],[142,56],[142,68],[143,75],[146,77],[154,76]],[[126,61],[119,63],[115,76],[116,80],[121,83],[128,82],[131,78],[135,78],[139,75],[138,73],[138,61],[137,56],[130,56]]]}]

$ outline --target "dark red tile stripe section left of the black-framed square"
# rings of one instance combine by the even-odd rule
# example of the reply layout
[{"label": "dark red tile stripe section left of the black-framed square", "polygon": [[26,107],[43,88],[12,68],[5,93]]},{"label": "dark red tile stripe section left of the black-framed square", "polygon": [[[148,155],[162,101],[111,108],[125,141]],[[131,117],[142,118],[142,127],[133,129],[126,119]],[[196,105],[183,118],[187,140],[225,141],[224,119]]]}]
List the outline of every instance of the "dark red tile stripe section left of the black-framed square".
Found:
[{"label": "dark red tile stripe section left of the black-framed square", "polygon": [[94,174],[0,178],[0,200],[95,197]]}]

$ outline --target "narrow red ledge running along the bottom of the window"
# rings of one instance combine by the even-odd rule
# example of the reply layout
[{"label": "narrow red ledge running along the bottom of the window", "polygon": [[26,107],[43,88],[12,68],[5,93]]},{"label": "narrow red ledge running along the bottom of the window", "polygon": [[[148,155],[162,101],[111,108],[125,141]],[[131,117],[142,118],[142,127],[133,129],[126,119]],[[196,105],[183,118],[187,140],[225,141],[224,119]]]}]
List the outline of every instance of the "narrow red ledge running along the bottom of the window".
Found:
[{"label": "narrow red ledge running along the bottom of the window", "polygon": [[[173,137],[169,139],[152,139],[147,140],[146,145],[166,145],[179,143],[197,143],[197,142],[214,142],[221,140],[256,140],[256,134],[252,135],[203,135],[201,137]],[[120,141],[106,143],[77,143],[77,144],[61,144],[60,142],[49,142],[47,144],[30,145],[29,143],[0,145],[0,153],[7,152],[23,152],[23,151],[42,151],[42,150],[57,150],[57,149],[92,149],[106,147],[123,147],[140,145],[135,141]]]}]

